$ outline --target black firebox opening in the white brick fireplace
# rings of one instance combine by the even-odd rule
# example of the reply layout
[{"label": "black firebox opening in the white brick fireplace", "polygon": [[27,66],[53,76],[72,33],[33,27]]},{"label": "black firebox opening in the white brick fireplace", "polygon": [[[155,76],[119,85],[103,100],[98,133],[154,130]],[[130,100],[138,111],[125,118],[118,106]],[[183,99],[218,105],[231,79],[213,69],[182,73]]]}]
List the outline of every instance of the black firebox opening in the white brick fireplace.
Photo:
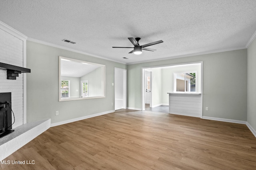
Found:
[{"label": "black firebox opening in the white brick fireplace", "polygon": [[0,93],[0,137],[7,135],[12,130],[12,95]]}]

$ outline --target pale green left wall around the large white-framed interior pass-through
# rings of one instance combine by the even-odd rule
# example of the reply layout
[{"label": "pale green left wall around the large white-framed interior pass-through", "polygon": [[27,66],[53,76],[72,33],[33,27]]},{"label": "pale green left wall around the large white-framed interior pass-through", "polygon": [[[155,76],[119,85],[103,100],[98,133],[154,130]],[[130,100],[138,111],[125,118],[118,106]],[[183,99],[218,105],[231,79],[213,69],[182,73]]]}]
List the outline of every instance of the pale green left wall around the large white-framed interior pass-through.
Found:
[{"label": "pale green left wall around the large white-framed interior pass-through", "polygon": [[[106,65],[106,98],[59,102],[59,56]],[[50,118],[51,123],[113,111],[114,67],[126,69],[125,64],[32,41],[27,41],[27,67],[31,69],[27,74],[27,121]]]}]

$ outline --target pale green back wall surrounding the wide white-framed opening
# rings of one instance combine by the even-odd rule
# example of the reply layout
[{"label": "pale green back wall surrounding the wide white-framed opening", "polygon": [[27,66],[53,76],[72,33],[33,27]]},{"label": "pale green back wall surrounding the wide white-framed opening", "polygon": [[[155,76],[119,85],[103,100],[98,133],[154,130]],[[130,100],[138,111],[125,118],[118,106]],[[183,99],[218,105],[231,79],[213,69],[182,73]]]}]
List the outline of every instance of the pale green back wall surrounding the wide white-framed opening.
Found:
[{"label": "pale green back wall surrounding the wide white-framed opening", "polygon": [[[142,67],[203,61],[203,116],[247,120],[247,50],[128,65],[128,107],[142,107]],[[209,107],[206,111],[205,107]]]}]

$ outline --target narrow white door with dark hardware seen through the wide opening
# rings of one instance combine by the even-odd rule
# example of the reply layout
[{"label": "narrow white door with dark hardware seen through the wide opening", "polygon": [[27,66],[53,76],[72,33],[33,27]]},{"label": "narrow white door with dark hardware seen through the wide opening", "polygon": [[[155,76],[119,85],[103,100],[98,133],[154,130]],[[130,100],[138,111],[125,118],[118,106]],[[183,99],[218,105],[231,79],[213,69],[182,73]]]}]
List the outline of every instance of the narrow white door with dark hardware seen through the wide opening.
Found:
[{"label": "narrow white door with dark hardware seen through the wide opening", "polygon": [[151,107],[151,95],[152,95],[152,72],[145,71],[145,104],[150,104]]}]

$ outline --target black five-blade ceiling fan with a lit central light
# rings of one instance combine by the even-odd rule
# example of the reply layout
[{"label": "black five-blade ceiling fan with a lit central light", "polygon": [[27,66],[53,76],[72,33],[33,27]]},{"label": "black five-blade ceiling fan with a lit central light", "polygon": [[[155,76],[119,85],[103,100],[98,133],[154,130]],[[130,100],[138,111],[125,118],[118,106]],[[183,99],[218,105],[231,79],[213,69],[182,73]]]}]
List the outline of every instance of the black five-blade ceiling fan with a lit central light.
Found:
[{"label": "black five-blade ceiling fan with a lit central light", "polygon": [[145,47],[164,42],[164,41],[160,40],[160,41],[155,41],[155,42],[144,44],[144,45],[139,45],[140,38],[137,37],[137,38],[134,39],[133,37],[131,37],[131,38],[128,38],[128,39],[131,41],[131,43],[134,45],[134,47],[113,47],[113,48],[133,48],[133,50],[130,51],[130,53],[141,54],[142,50],[156,51],[155,49],[149,49],[149,48],[145,48]]}]

